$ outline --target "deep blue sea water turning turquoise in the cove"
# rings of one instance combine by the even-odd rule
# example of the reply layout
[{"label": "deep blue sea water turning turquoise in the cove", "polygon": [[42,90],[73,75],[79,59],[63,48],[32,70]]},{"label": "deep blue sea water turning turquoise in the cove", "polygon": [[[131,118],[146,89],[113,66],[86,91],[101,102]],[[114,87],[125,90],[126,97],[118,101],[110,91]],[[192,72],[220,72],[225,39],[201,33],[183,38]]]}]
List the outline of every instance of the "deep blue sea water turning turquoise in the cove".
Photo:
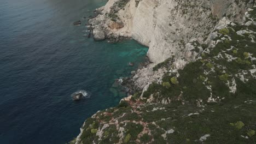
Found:
[{"label": "deep blue sea water turning turquoise in the cove", "polygon": [[[0,0],[0,143],[68,142],[86,118],[124,97],[110,92],[114,79],[129,76],[147,48],[83,37],[83,17],[106,2]],[[90,98],[73,101],[81,90]]]}]

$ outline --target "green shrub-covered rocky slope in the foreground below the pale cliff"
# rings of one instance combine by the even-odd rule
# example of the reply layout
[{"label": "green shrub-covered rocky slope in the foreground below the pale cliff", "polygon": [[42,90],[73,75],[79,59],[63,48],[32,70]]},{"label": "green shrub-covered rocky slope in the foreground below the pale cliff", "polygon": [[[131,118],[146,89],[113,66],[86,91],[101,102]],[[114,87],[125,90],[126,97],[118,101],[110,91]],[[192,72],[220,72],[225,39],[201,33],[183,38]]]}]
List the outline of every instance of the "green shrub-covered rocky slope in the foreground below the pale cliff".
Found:
[{"label": "green shrub-covered rocky slope in the foreground below the pale cliff", "polygon": [[161,82],[88,118],[71,143],[256,143],[256,7],[212,34],[195,62],[159,64]]}]

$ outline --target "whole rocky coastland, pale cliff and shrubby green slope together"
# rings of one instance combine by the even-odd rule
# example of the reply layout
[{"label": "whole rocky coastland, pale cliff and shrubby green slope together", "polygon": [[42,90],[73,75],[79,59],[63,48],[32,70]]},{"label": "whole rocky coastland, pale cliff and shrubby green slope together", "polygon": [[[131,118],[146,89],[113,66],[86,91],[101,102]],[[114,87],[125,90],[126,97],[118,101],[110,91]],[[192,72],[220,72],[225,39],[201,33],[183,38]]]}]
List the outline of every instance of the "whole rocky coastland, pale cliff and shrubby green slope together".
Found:
[{"label": "whole rocky coastland, pale cliff and shrubby green slope together", "polygon": [[136,93],[86,119],[70,143],[256,143],[252,3],[110,0],[92,27],[148,45],[154,63],[132,77]]}]

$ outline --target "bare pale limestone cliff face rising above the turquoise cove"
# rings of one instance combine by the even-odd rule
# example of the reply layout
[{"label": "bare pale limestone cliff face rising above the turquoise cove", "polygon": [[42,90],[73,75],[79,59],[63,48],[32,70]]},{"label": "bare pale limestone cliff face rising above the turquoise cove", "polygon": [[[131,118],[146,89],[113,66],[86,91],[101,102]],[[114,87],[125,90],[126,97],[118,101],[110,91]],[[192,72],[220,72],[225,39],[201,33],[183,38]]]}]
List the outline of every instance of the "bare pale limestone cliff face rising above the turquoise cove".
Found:
[{"label": "bare pale limestone cliff face rising above the turquoise cove", "polygon": [[[251,5],[250,1],[236,0],[109,0],[91,23],[101,27],[106,37],[132,37],[148,46],[150,61],[160,63],[171,56],[183,58],[184,44],[191,39],[203,43],[223,16],[242,22]],[[124,27],[109,28],[111,19]]]}]

